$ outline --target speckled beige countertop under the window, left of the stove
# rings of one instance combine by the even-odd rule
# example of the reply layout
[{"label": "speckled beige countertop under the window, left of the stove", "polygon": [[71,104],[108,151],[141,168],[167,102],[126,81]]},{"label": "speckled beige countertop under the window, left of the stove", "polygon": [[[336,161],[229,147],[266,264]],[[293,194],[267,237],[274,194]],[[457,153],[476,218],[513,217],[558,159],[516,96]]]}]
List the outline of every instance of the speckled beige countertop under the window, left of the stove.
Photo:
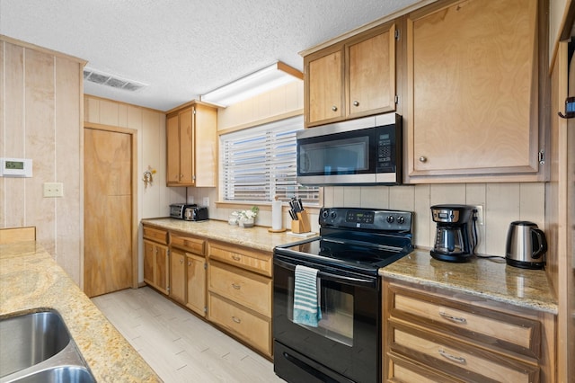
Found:
[{"label": "speckled beige countertop under the window, left of the stove", "polygon": [[208,219],[205,221],[185,221],[175,218],[142,219],[143,224],[162,227],[166,230],[180,231],[184,234],[203,236],[208,239],[243,245],[273,254],[277,245],[291,244],[314,236],[292,236],[290,231],[270,233],[268,227],[238,227],[225,221]]}]

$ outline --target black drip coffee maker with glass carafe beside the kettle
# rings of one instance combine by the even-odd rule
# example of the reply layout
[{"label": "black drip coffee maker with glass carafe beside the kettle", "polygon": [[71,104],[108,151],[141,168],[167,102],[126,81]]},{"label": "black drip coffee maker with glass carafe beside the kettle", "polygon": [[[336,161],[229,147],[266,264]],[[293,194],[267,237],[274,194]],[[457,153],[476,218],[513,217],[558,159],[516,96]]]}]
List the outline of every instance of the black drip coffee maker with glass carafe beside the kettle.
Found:
[{"label": "black drip coffee maker with glass carafe beside the kettle", "polygon": [[473,206],[435,205],[431,216],[437,223],[435,245],[429,252],[433,258],[462,263],[473,256],[477,245]]}]

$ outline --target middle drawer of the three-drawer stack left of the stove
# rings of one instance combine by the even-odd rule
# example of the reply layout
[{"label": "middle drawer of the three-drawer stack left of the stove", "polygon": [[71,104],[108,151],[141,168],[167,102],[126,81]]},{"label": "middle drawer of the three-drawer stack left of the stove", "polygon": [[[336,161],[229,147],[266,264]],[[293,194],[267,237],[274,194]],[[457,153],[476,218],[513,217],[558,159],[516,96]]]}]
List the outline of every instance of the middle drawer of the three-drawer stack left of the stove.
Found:
[{"label": "middle drawer of the three-drawer stack left of the stove", "polygon": [[224,263],[209,263],[209,290],[271,317],[271,279]]}]

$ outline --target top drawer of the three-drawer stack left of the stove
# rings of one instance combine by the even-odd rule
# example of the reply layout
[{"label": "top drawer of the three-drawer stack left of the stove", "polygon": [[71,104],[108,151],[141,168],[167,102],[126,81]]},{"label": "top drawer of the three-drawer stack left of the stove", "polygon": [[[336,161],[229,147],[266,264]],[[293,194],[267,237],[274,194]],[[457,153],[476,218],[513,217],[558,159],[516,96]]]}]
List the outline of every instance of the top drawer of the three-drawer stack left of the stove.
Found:
[{"label": "top drawer of the three-drawer stack left of the stove", "polygon": [[272,254],[209,243],[209,257],[237,267],[271,276]]}]

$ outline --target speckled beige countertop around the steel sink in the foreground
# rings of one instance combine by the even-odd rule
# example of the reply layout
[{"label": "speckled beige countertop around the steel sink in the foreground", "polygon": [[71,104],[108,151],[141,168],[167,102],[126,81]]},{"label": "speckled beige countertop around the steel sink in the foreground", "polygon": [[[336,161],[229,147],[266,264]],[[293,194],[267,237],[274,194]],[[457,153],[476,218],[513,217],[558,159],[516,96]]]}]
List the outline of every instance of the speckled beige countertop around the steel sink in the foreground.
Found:
[{"label": "speckled beige countertop around the steel sink in the foreground", "polygon": [[40,245],[0,245],[0,315],[38,307],[60,313],[98,382],[162,381]]}]

